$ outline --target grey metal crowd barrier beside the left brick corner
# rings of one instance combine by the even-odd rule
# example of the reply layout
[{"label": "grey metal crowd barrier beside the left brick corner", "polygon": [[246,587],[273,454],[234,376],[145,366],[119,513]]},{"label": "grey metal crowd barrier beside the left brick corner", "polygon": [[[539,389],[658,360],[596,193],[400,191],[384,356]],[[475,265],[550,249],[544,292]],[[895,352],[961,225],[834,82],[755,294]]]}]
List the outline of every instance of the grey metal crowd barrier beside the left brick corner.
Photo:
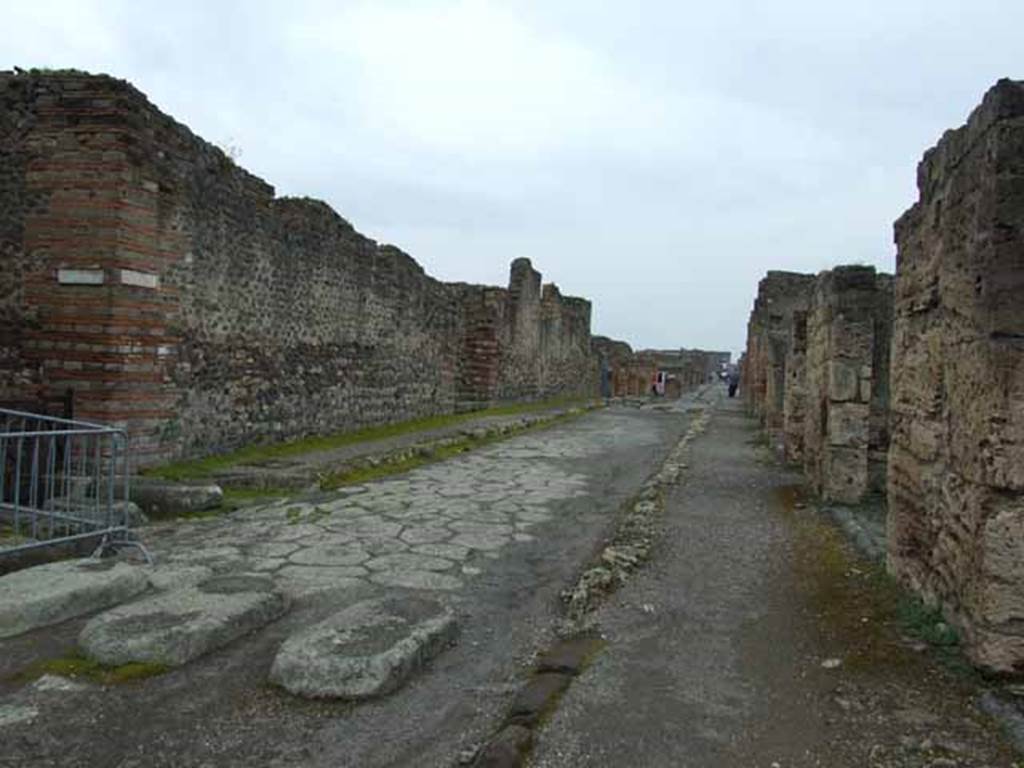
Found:
[{"label": "grey metal crowd barrier beside the left brick corner", "polygon": [[124,430],[0,409],[0,558],[88,539],[139,546]]}]

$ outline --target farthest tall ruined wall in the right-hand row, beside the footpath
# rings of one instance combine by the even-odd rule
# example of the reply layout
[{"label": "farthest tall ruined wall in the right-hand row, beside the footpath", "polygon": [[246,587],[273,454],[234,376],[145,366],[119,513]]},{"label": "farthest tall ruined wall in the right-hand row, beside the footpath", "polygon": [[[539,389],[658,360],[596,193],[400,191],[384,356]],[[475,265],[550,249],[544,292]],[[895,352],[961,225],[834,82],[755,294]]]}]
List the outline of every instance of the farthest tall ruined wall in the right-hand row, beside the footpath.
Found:
[{"label": "farthest tall ruined wall in the right-hand row, beside the footpath", "polygon": [[781,443],[785,415],[786,355],[794,317],[806,312],[814,275],[770,271],[758,284],[746,325],[741,393],[775,443]]}]

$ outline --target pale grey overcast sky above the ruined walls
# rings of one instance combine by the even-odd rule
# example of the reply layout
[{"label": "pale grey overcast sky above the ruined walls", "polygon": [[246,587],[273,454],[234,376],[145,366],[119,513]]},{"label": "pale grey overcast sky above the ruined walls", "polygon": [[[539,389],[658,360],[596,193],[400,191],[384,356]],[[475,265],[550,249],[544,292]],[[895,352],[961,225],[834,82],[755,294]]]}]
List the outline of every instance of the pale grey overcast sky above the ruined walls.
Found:
[{"label": "pale grey overcast sky above the ruined walls", "polygon": [[635,347],[738,350],[768,269],[894,268],[1022,0],[32,2],[0,68],[125,78],[447,281],[529,257]]}]

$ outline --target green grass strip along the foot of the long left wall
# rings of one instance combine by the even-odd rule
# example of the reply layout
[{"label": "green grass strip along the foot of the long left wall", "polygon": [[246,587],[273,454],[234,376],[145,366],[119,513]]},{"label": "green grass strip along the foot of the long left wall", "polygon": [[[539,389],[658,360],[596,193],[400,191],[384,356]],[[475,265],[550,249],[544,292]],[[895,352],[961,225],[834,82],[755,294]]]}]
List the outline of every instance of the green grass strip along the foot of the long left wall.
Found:
[{"label": "green grass strip along the foot of the long left wall", "polygon": [[442,414],[429,416],[423,419],[397,422],[395,424],[383,424],[376,427],[367,427],[348,432],[336,432],[329,435],[315,435],[303,437],[298,440],[288,442],[276,442],[269,444],[247,445],[246,447],[233,451],[220,456],[211,456],[205,459],[195,459],[190,461],[175,462],[161,467],[146,469],[143,474],[152,477],[160,477],[165,480],[194,480],[210,477],[217,472],[221,472],[240,464],[251,464],[272,459],[284,459],[289,457],[302,456],[322,451],[332,451],[345,447],[360,442],[386,439],[388,437],[398,437],[415,432],[423,432],[432,429],[442,429],[444,427],[458,426],[476,419],[499,416],[517,416],[535,411],[563,406],[572,406],[587,402],[586,398],[579,397],[555,397],[537,402],[513,403],[509,406],[496,406],[481,411],[470,411],[462,414]]}]

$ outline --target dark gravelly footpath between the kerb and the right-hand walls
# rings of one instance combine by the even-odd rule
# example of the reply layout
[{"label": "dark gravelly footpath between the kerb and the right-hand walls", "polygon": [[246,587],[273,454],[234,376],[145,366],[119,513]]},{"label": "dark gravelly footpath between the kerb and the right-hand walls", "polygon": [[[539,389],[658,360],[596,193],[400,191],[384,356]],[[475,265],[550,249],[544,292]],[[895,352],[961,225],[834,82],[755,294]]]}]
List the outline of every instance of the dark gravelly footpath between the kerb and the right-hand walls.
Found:
[{"label": "dark gravelly footpath between the kerb and the right-hand walls", "polygon": [[1013,766],[981,681],[907,637],[897,590],[756,435],[719,402],[653,562],[598,610],[605,650],[530,764]]}]

